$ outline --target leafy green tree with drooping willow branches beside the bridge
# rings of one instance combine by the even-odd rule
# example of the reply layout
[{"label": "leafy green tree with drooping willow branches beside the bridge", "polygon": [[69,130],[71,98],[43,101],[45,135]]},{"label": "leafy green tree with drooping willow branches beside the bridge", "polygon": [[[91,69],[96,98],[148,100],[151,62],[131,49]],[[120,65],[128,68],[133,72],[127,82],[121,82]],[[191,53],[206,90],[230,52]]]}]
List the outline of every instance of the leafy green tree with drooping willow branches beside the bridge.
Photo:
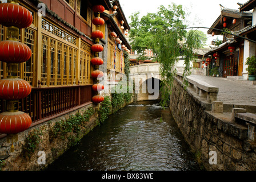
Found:
[{"label": "leafy green tree with drooping willow branches beside the bridge", "polygon": [[161,82],[162,101],[166,106],[169,102],[171,88],[176,73],[175,63],[179,56],[185,60],[184,75],[190,74],[190,63],[194,60],[193,49],[200,47],[200,39],[195,31],[186,31],[185,11],[182,5],[169,5],[158,7],[157,13],[148,13],[139,19],[139,13],[130,16],[130,38],[133,50],[145,57],[143,51],[151,49],[154,60],[161,63],[161,76],[165,79]]}]

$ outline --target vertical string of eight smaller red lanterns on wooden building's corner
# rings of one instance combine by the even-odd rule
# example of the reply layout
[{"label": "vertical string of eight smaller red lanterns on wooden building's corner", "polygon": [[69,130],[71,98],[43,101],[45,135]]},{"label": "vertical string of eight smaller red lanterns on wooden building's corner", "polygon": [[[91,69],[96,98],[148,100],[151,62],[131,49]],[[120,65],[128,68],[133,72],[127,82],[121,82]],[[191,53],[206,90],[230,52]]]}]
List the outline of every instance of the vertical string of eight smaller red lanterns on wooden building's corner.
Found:
[{"label": "vertical string of eight smaller red lanterns on wooden building's corner", "polygon": [[[105,24],[105,20],[100,17],[100,14],[105,11],[105,7],[102,5],[95,5],[93,6],[94,13],[98,13],[98,16],[93,19],[93,24],[97,27],[102,26]],[[95,30],[91,33],[91,38],[95,39],[95,44],[91,46],[91,51],[95,53],[95,57],[91,59],[91,64],[94,65],[94,70],[91,72],[91,77],[97,79],[104,76],[104,73],[102,71],[99,71],[99,65],[102,65],[104,63],[103,59],[99,57],[99,52],[102,52],[104,50],[104,47],[99,44],[99,39],[102,39],[104,36],[103,32],[100,30]],[[93,96],[92,101],[94,103],[101,103],[104,101],[104,97],[99,95],[99,92],[101,92],[104,89],[104,85],[99,84],[98,81],[95,83],[92,87],[94,92],[97,92],[98,94],[96,96]]]}]

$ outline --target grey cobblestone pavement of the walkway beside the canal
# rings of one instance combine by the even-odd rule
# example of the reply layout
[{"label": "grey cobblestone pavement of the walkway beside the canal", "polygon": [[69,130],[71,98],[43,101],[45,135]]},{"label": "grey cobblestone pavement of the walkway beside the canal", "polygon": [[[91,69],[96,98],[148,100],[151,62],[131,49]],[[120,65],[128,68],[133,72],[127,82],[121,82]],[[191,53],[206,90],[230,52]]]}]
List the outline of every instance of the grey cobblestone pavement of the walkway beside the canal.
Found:
[{"label": "grey cobblestone pavement of the walkway beside the canal", "polygon": [[[191,77],[205,81],[219,88],[218,101],[223,104],[256,105],[256,86],[246,85],[241,81],[227,78],[191,75]],[[246,80],[245,80],[246,81]]]}]

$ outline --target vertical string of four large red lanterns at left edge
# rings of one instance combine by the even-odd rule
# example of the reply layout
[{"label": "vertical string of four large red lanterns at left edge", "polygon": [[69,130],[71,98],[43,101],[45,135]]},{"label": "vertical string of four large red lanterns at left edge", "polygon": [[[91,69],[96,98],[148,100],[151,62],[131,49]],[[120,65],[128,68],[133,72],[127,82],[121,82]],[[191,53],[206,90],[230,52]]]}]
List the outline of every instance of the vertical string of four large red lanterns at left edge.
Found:
[{"label": "vertical string of four large red lanterns at left edge", "polygon": [[0,81],[0,99],[6,100],[6,112],[0,114],[0,133],[7,134],[7,142],[11,142],[11,152],[18,133],[29,129],[32,119],[29,114],[18,111],[18,100],[26,98],[31,93],[29,82],[18,78],[18,63],[26,62],[31,57],[31,49],[18,42],[19,28],[29,27],[33,16],[18,1],[8,1],[0,4],[0,24],[7,27],[10,38],[0,42],[0,60],[7,63],[6,79]]}]

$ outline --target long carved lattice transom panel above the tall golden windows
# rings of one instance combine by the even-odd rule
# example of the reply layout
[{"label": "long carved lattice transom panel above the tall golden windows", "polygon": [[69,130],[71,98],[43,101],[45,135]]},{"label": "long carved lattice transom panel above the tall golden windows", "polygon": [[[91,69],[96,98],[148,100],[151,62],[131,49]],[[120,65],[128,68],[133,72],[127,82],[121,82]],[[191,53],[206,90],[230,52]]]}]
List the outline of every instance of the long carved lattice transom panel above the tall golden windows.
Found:
[{"label": "long carved lattice transom panel above the tall golden windows", "polygon": [[66,31],[61,30],[61,28],[58,28],[57,26],[48,22],[45,19],[42,19],[42,29],[50,32],[55,36],[58,36],[59,38],[62,38],[63,40],[66,40],[69,43],[77,45],[77,38],[75,38],[73,35],[70,35]]}]

